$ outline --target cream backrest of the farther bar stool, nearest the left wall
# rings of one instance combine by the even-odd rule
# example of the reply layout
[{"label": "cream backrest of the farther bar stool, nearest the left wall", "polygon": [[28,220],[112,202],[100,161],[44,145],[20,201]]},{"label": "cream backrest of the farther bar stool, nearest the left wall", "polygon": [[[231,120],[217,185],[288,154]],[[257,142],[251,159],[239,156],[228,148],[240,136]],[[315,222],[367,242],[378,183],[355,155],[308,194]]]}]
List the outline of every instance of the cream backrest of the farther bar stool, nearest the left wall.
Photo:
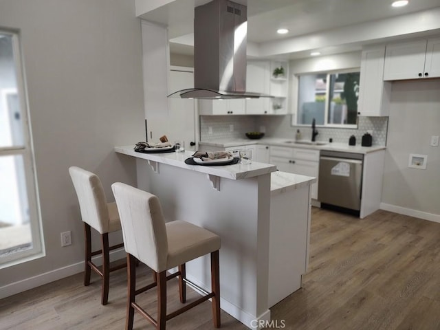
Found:
[{"label": "cream backrest of the farther bar stool, nearest the left wall", "polygon": [[77,166],[69,167],[69,174],[80,203],[83,221],[100,234],[109,232],[109,209],[99,177]]}]

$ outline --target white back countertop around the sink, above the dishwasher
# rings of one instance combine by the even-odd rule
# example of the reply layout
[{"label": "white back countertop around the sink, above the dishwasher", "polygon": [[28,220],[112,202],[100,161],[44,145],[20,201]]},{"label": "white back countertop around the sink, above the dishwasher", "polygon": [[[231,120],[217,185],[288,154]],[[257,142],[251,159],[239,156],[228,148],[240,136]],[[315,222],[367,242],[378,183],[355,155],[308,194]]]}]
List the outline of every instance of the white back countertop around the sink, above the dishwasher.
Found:
[{"label": "white back countertop around the sink, above the dishwasher", "polygon": [[215,141],[200,141],[199,144],[205,146],[219,146],[223,148],[228,148],[232,146],[245,146],[250,144],[265,144],[270,146],[287,146],[291,148],[307,148],[316,150],[327,150],[327,151],[342,151],[346,153],[373,153],[375,151],[383,150],[386,146],[360,146],[357,144],[355,146],[349,146],[346,143],[327,143],[325,145],[314,145],[314,144],[297,144],[297,143],[286,143],[286,141],[294,142],[294,139],[282,138],[282,137],[263,137],[259,140],[250,139],[230,139],[230,140],[215,140]]}]

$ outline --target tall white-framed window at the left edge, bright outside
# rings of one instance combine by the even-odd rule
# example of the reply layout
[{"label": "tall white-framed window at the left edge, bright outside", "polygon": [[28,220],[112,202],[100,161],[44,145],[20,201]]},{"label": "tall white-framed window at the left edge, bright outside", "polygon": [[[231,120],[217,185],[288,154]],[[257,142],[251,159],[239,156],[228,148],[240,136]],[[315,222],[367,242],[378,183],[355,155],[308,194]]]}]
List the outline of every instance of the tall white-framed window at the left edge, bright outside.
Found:
[{"label": "tall white-framed window at the left edge, bright outside", "polygon": [[0,268],[43,253],[19,35],[0,30]]}]

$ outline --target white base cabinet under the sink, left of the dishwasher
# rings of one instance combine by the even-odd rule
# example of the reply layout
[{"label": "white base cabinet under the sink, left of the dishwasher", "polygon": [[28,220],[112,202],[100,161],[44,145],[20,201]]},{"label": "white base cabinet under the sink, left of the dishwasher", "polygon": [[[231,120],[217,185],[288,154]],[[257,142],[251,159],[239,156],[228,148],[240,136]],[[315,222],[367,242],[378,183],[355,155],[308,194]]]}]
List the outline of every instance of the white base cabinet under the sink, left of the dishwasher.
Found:
[{"label": "white base cabinet under the sink, left of the dishwasher", "polygon": [[286,146],[270,147],[270,164],[278,170],[288,173],[316,177],[311,185],[311,198],[318,198],[319,150],[290,148]]}]

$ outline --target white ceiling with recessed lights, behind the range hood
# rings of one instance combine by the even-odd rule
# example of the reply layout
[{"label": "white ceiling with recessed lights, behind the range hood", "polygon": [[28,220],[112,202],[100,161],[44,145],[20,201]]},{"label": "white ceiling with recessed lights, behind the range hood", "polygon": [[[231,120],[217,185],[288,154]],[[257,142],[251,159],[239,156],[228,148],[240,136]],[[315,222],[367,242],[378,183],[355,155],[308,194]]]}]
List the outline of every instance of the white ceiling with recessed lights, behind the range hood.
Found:
[{"label": "white ceiling with recessed lights, behind the range hood", "polygon": [[[168,26],[172,52],[192,54],[194,7],[209,1],[164,0],[165,5],[138,17]],[[413,30],[415,35],[423,32],[428,34],[440,32],[440,23],[434,28],[432,23],[427,25],[426,31],[422,26],[426,23],[423,20],[427,19],[440,22],[440,0],[410,0],[410,3],[402,8],[392,8],[391,0],[236,0],[234,2],[248,6],[248,45],[263,50],[265,57],[280,54],[285,58],[301,58],[309,56],[310,50],[319,48],[324,54],[360,50],[363,44],[372,43],[375,39],[391,38],[393,35],[387,34],[388,25],[384,25],[390,20],[401,25],[401,29],[398,25],[391,26],[397,31],[410,33]],[[430,17],[430,14],[434,17]],[[399,18],[401,20],[397,21]],[[381,31],[375,31],[378,27],[382,27]],[[276,34],[278,28],[287,28],[289,32],[284,35]],[[375,34],[369,36],[369,32]],[[357,33],[358,40],[353,36],[347,41],[342,40],[338,43],[338,35],[344,36],[341,33]],[[399,32],[394,34],[399,36]],[[335,40],[330,41],[332,38]],[[309,42],[310,45],[306,45],[307,42],[304,41],[307,39],[321,41]],[[297,45],[301,42],[304,45],[289,49],[286,45],[290,42]],[[280,50],[277,50],[278,46]]]}]

